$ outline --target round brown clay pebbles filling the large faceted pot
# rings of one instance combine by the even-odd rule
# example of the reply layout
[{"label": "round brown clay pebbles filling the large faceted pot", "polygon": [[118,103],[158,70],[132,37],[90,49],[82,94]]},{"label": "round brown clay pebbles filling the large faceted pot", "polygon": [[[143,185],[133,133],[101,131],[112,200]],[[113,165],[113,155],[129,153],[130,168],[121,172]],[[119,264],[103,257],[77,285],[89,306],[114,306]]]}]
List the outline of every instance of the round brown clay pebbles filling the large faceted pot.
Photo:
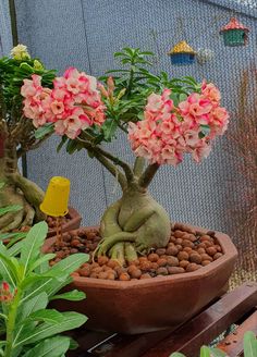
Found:
[{"label": "round brown clay pebbles filling the large faceted pot", "polygon": [[64,234],[62,246],[53,245],[49,250],[57,255],[50,264],[53,266],[71,254],[87,253],[89,261],[72,273],[73,276],[135,281],[194,272],[223,255],[215,232],[205,234],[179,223],[171,231],[166,248],[151,249],[148,256],[139,257],[127,267],[120,267],[108,257],[95,258],[93,262],[93,253],[100,239],[97,229],[82,227]]}]

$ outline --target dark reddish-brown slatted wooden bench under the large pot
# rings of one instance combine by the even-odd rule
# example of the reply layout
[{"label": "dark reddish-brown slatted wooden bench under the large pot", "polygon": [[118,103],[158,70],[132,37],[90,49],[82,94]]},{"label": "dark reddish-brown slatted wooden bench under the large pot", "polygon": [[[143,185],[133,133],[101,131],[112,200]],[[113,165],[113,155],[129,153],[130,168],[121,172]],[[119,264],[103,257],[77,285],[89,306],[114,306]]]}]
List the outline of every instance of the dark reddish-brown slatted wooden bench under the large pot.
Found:
[{"label": "dark reddish-brown slatted wooden bench under the large pot", "polygon": [[79,347],[69,357],[169,357],[173,352],[198,357],[201,345],[211,343],[233,323],[236,330],[218,346],[230,357],[242,354],[246,331],[257,334],[257,283],[244,283],[227,293],[176,329],[138,335],[76,330],[72,336]]}]

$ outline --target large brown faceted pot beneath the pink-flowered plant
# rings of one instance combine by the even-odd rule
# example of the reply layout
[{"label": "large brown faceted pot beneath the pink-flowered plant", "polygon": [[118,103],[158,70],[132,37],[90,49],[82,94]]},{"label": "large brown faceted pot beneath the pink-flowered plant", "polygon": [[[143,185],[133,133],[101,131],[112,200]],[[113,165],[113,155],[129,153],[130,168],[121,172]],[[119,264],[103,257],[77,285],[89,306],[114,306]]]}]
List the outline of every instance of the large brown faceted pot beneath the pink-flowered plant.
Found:
[{"label": "large brown faceted pot beneath the pink-flowered plant", "polygon": [[[179,325],[218,297],[233,271],[235,246],[223,233],[216,232],[216,237],[223,256],[197,271],[127,282],[74,276],[68,290],[85,292],[86,299],[57,300],[54,307],[85,313],[87,328],[98,331],[135,334]],[[54,239],[48,239],[44,250]]]}]

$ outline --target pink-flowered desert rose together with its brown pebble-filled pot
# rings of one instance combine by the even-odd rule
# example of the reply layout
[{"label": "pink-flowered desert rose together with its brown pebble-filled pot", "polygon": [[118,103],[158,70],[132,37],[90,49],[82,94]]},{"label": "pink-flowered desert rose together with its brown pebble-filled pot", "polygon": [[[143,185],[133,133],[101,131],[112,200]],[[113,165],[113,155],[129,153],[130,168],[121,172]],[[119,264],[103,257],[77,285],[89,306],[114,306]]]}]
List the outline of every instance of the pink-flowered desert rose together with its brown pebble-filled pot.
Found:
[{"label": "pink-flowered desert rose together with its brown pebble-filled pot", "polygon": [[[122,189],[122,197],[107,208],[100,231],[70,232],[64,242],[54,244],[53,238],[45,247],[58,251],[58,260],[77,250],[91,254],[73,284],[90,296],[76,308],[85,306],[90,327],[99,330],[136,333],[181,323],[220,294],[236,257],[228,236],[171,223],[147,190],[162,164],[176,167],[185,153],[197,162],[207,157],[229,122],[213,84],[152,74],[146,70],[151,54],[131,48],[117,52],[126,67],[102,77],[106,85],[68,69],[53,81],[42,113],[42,127],[47,122],[49,131],[62,136],[59,149],[64,144],[70,153],[86,149]],[[22,87],[24,115],[39,125],[30,104],[34,91],[42,90],[39,76]],[[133,167],[100,145],[118,130],[128,137],[136,156]]]}]

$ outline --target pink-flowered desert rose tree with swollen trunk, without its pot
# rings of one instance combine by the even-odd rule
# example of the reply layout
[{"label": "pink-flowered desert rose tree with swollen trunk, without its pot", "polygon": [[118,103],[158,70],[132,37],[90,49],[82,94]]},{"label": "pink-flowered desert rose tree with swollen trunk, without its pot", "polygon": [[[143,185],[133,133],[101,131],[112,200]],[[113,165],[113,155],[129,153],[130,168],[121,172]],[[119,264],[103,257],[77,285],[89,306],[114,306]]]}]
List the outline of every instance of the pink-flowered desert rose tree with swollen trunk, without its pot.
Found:
[{"label": "pink-flowered desert rose tree with swollen trunk, without its pot", "polygon": [[[47,123],[61,135],[59,149],[64,144],[70,153],[86,149],[119,182],[122,197],[105,211],[96,255],[108,255],[121,264],[168,244],[170,218],[147,192],[159,168],[176,167],[185,153],[199,162],[209,155],[213,138],[224,133],[229,119],[213,84],[152,74],[146,69],[150,56],[131,48],[114,53],[125,67],[110,71],[113,77],[107,73],[100,78],[103,84],[70,67],[53,81],[44,103],[36,101],[45,90],[40,76],[22,87],[27,119],[36,126]],[[33,112],[32,106],[37,106]],[[135,153],[133,167],[101,147],[119,130]]]}]

